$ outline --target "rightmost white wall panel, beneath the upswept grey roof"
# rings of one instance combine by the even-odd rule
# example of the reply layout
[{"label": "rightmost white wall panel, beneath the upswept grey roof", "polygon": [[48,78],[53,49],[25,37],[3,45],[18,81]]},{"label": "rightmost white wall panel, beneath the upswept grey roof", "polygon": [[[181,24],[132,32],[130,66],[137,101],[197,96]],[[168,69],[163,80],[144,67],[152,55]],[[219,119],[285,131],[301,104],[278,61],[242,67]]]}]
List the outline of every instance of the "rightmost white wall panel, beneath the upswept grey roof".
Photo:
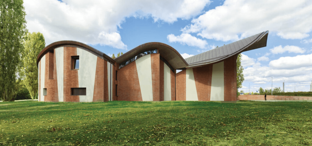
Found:
[{"label": "rightmost white wall panel, beneath the upswept grey roof", "polygon": [[224,62],[212,65],[210,101],[224,101]]}]

